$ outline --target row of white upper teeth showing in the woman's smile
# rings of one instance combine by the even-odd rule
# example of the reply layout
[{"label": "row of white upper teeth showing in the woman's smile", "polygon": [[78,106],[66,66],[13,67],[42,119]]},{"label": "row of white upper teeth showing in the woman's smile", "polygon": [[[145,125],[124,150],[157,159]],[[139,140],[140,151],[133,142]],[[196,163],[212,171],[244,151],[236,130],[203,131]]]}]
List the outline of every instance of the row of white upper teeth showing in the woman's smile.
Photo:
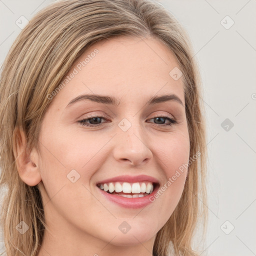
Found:
[{"label": "row of white upper teeth showing in the woman's smile", "polygon": [[109,182],[103,183],[99,185],[100,189],[104,189],[104,191],[109,191],[110,193],[115,192],[123,192],[123,193],[151,193],[153,191],[153,184],[151,182],[136,182],[136,183],[128,183],[128,182]]}]

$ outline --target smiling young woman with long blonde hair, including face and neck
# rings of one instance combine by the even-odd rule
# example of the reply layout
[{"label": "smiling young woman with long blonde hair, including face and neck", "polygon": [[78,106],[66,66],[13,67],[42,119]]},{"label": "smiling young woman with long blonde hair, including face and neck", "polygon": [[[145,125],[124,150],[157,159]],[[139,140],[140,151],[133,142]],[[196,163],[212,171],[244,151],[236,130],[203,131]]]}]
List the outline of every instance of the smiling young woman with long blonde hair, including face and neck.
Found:
[{"label": "smiling young woman with long blonde hair, including face and neck", "polygon": [[38,12],[0,80],[6,255],[198,255],[199,86],[185,31],[156,2]]}]

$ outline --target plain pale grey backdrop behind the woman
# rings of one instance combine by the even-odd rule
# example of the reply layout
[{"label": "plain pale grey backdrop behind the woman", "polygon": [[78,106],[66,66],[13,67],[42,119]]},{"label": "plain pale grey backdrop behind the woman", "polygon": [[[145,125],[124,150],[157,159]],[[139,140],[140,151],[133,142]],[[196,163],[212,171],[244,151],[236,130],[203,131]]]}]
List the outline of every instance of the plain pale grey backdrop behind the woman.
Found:
[{"label": "plain pale grey backdrop behind the woman", "polygon": [[[20,19],[50,2],[0,0],[0,65]],[[187,30],[202,77],[209,220],[201,255],[256,255],[256,0],[158,2]]]}]

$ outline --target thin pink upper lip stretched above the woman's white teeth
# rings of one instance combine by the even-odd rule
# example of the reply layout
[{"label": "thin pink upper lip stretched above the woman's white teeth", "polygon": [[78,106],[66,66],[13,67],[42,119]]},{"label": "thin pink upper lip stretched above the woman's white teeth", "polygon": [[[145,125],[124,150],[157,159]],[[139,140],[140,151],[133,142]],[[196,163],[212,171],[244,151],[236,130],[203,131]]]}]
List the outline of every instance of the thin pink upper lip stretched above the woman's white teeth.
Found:
[{"label": "thin pink upper lip stretched above the woman's white teeth", "polygon": [[97,184],[108,183],[108,182],[118,182],[118,181],[129,182],[129,183],[150,181],[152,183],[159,183],[159,181],[156,178],[148,176],[148,175],[138,175],[138,176],[120,175],[120,176],[107,178],[107,179],[98,181]]}]

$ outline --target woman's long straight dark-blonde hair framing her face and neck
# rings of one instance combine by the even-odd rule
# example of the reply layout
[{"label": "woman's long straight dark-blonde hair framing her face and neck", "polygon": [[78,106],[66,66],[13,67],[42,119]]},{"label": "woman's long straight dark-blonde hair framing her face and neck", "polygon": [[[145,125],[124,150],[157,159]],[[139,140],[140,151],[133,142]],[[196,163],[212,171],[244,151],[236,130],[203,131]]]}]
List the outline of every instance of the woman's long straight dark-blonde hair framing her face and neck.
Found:
[{"label": "woman's long straight dark-blonde hair framing her face and neck", "polygon": [[[206,145],[200,76],[189,38],[178,21],[152,0],[60,0],[40,10],[22,29],[2,65],[0,78],[0,223],[7,256],[38,253],[45,228],[39,189],[24,183],[17,171],[14,144],[20,128],[27,152],[38,150],[40,123],[75,60],[93,43],[118,35],[153,36],[176,56],[183,73],[185,112],[190,140],[189,165],[181,198],[157,232],[153,254],[198,255],[192,238],[198,219],[206,226]],[[201,198],[201,199],[199,199]],[[203,203],[200,205],[200,201]],[[28,230],[20,234],[20,221]],[[203,234],[206,229],[203,229]]]}]

